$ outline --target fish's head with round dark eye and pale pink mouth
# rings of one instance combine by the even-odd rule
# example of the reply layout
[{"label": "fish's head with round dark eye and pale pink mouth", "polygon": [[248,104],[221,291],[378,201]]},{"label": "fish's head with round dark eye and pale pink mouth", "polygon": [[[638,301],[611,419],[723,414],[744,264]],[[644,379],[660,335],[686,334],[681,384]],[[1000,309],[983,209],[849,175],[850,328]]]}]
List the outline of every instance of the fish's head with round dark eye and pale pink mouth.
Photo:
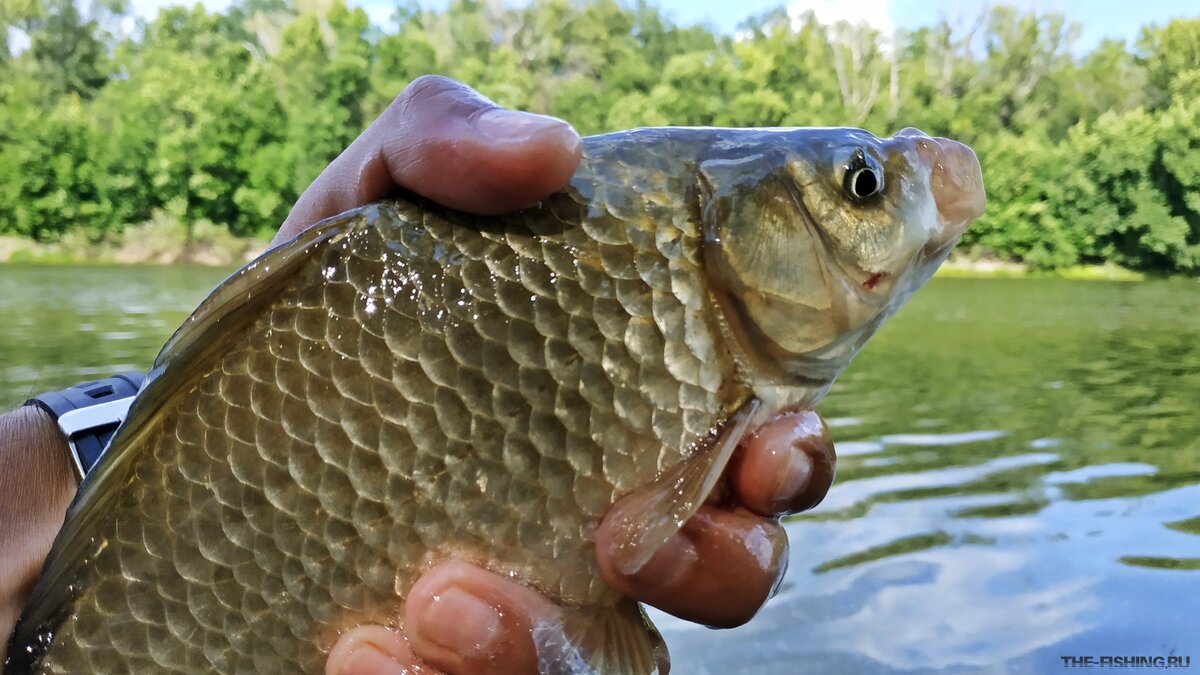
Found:
[{"label": "fish's head with round dark eye and pale pink mouth", "polygon": [[983,174],[913,129],[756,133],[700,162],[713,298],[754,370],[827,386],[983,214]]}]

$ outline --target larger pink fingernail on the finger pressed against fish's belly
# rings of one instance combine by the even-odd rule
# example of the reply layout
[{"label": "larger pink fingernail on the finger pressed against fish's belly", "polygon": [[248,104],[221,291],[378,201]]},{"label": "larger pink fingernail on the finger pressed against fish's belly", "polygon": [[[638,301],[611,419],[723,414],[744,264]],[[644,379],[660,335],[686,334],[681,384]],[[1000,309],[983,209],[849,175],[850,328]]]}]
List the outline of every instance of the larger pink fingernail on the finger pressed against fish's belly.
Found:
[{"label": "larger pink fingernail on the finger pressed against fish's belly", "polygon": [[431,643],[463,657],[491,651],[500,632],[500,613],[481,598],[451,586],[433,596],[419,631]]}]

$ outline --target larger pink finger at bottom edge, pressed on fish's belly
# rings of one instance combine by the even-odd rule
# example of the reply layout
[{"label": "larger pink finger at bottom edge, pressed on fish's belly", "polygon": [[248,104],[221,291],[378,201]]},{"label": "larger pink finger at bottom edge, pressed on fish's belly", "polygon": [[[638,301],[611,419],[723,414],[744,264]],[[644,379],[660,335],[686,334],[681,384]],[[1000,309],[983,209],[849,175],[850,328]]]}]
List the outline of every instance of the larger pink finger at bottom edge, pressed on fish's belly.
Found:
[{"label": "larger pink finger at bottom edge, pressed on fish's belly", "polygon": [[464,562],[446,562],[413,585],[404,626],[413,652],[454,675],[533,675],[533,628],[560,611],[536,591]]}]

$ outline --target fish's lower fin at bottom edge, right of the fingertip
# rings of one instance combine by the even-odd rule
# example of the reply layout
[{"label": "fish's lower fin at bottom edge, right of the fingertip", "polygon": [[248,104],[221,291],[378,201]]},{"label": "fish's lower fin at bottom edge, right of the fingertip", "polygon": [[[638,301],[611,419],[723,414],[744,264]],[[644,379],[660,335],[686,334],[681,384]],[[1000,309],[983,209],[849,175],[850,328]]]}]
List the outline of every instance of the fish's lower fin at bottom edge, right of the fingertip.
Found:
[{"label": "fish's lower fin at bottom edge, right of the fingertip", "polygon": [[533,627],[539,675],[667,675],[662,635],[632,599],[616,607],[566,608],[560,621]]}]

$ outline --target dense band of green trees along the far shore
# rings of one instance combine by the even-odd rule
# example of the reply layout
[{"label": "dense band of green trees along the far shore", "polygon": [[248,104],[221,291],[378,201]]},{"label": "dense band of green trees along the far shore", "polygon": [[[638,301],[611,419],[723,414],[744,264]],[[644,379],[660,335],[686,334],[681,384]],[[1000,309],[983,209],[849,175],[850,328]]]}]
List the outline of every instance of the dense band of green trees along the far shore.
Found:
[{"label": "dense band of green trees along the far shore", "polygon": [[918,126],[984,163],[970,253],[1200,271],[1200,19],[1087,53],[1062,16],[1004,5],[896,35],[779,10],[731,37],[644,0],[408,2],[386,26],[344,0],[168,7],[151,22],[122,0],[5,0],[0,29],[0,235],[95,244],[166,219],[186,240],[264,237],[432,72],[584,133]]}]

